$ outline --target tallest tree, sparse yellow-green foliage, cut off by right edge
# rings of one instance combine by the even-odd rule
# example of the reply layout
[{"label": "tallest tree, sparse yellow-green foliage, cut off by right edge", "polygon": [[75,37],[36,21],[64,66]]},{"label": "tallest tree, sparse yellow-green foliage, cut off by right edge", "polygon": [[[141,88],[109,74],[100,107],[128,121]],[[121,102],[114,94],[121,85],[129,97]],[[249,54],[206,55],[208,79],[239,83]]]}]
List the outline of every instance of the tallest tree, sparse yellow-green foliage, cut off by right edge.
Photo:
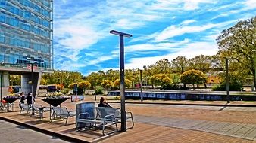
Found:
[{"label": "tallest tree, sparse yellow-green foliage, cut off by right edge", "polygon": [[217,38],[220,51],[228,52],[229,58],[236,60],[237,69],[248,69],[248,74],[255,78],[256,50],[256,17],[236,23],[235,26],[223,30]]}]

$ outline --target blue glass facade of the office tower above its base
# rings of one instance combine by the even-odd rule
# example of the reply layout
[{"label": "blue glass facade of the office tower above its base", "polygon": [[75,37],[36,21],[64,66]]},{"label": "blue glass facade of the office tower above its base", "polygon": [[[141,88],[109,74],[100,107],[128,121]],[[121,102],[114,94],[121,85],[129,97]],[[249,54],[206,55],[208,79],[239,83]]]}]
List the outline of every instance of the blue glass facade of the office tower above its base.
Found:
[{"label": "blue glass facade of the office tower above its base", "polygon": [[52,0],[0,0],[0,62],[53,68]]}]

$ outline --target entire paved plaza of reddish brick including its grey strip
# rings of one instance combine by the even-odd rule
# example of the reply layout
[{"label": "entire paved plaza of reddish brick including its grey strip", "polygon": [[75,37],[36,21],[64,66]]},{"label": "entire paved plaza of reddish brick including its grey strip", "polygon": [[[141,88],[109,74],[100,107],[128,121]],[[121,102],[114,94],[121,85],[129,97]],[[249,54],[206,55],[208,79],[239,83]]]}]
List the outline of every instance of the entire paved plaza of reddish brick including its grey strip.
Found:
[{"label": "entire paved plaza of reddish brick including its grey strip", "polygon": [[[92,99],[92,96],[86,96],[85,100],[92,101]],[[120,107],[118,101],[109,100],[109,102],[114,108]],[[141,104],[138,100],[126,102],[126,111],[132,111],[134,115],[134,128],[106,136],[98,130],[77,132],[75,117],[70,118],[65,126],[64,121],[49,123],[48,112],[45,112],[42,120],[36,116],[19,114],[17,102],[15,112],[0,113],[0,117],[44,129],[48,134],[57,133],[87,142],[256,142],[256,107],[226,107],[225,102],[161,100],[144,101],[148,104]],[[150,102],[158,104],[149,104]],[[198,105],[171,105],[172,103]],[[36,99],[36,104],[48,106],[41,99]],[[76,104],[79,103],[67,100],[61,106],[75,110]],[[254,102],[231,104],[256,105]],[[1,126],[0,129],[4,130],[5,127]]]}]

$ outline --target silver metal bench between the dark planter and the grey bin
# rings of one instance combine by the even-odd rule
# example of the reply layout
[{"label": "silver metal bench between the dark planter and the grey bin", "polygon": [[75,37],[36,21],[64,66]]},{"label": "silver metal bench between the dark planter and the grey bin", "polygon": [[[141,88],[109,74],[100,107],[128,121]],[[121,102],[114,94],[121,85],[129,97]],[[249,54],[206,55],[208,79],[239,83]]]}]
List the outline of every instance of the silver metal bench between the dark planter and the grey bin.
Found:
[{"label": "silver metal bench between the dark planter and the grey bin", "polygon": [[67,125],[68,117],[76,116],[76,111],[68,111],[67,108],[56,107],[56,108],[53,108],[52,114],[53,114],[52,120],[55,120],[55,118],[63,118],[63,120],[66,119],[65,125]]}]

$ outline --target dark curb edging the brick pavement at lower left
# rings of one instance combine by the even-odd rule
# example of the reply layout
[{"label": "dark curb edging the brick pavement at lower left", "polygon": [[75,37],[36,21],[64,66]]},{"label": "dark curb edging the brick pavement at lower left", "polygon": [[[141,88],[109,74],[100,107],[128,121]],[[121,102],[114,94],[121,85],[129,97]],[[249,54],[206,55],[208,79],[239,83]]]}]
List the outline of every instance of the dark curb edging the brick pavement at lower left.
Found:
[{"label": "dark curb edging the brick pavement at lower left", "polygon": [[45,129],[40,129],[36,126],[32,126],[30,124],[26,124],[26,123],[21,123],[21,122],[18,122],[16,120],[11,120],[11,119],[8,119],[8,118],[5,118],[5,117],[1,117],[0,116],[0,120],[5,120],[6,122],[9,122],[9,123],[14,123],[14,124],[17,124],[19,126],[25,126],[27,127],[28,129],[32,129],[36,132],[41,132],[43,134],[46,134],[46,135],[51,135],[51,136],[55,136],[55,137],[58,137],[60,139],[63,139],[64,141],[70,141],[70,142],[85,142],[85,143],[89,143],[89,141],[83,141],[81,139],[78,139],[78,138],[72,138],[70,136],[67,136],[67,135],[62,135],[60,133],[56,133],[56,132],[52,132],[52,131],[48,131],[48,130],[45,130]]}]

